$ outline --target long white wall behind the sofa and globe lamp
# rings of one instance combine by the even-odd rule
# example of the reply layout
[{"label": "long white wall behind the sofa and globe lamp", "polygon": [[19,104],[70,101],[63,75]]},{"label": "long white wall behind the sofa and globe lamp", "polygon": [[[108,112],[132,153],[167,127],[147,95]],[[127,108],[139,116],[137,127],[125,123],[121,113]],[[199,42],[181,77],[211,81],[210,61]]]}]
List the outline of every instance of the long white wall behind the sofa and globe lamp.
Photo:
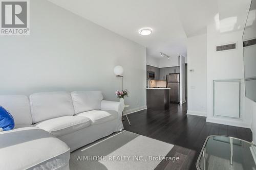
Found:
[{"label": "long white wall behind the sofa and globe lamp", "polygon": [[46,0],[30,1],[30,36],[1,36],[0,94],[102,90],[118,99],[124,68],[128,109],[146,105],[146,48]]}]

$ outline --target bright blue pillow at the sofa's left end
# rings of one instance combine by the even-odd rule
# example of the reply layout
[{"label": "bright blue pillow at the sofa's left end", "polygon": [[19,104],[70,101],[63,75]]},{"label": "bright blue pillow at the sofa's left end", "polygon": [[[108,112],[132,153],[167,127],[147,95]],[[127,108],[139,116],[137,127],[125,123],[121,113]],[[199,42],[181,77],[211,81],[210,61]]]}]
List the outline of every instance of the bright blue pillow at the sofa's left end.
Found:
[{"label": "bright blue pillow at the sofa's left end", "polygon": [[2,106],[0,106],[0,128],[4,131],[14,128],[14,119],[12,115]]}]

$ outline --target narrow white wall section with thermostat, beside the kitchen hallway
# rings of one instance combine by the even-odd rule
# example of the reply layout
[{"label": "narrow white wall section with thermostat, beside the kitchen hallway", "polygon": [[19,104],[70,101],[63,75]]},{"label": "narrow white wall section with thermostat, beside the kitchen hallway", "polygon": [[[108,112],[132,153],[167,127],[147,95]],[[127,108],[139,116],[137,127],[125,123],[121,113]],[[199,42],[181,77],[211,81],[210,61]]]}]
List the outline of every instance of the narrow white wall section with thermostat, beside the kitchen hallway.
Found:
[{"label": "narrow white wall section with thermostat, beside the kitchen hallway", "polygon": [[[187,40],[187,114],[206,116],[206,34]],[[189,72],[194,69],[194,72]]]}]

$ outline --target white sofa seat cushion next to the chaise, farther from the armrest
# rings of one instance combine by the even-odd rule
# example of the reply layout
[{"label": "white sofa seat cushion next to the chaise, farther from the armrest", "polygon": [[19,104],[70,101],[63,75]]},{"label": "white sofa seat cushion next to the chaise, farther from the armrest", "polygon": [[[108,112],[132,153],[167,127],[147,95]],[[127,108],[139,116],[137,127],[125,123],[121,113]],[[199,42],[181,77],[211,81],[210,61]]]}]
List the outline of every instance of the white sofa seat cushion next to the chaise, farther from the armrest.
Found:
[{"label": "white sofa seat cushion next to the chaise, farther from the armrest", "polygon": [[62,116],[44,120],[35,124],[36,127],[44,129],[55,136],[62,136],[91,125],[91,120],[87,117]]}]

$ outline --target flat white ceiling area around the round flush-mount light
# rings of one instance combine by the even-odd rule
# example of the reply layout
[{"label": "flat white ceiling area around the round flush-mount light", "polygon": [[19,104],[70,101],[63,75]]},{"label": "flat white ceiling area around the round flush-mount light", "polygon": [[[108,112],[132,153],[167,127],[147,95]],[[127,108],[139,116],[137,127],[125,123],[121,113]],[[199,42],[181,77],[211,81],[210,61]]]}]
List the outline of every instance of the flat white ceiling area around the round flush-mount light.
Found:
[{"label": "flat white ceiling area around the round flush-mount light", "polygon": [[[202,0],[204,1],[204,0]],[[147,47],[147,55],[160,57],[186,56],[186,34],[179,11],[170,0],[50,0],[50,2],[82,16],[123,37]],[[153,33],[141,36],[140,28]]]}]

